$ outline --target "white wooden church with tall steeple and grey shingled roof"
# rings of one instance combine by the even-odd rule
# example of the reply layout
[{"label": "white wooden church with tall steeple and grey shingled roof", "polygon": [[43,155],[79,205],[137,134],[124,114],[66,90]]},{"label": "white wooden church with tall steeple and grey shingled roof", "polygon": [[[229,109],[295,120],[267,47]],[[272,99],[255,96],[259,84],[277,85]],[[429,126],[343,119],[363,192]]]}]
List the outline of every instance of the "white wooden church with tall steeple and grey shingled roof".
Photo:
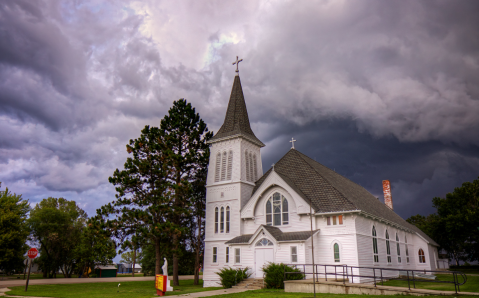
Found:
[{"label": "white wooden church with tall steeple and grey shingled roof", "polygon": [[437,268],[437,243],[397,215],[391,200],[383,204],[294,143],[263,174],[265,145],[250,127],[238,72],[224,123],[209,143],[205,287],[218,286],[222,267],[249,267],[262,278],[267,262],[311,264],[312,244],[316,264]]}]

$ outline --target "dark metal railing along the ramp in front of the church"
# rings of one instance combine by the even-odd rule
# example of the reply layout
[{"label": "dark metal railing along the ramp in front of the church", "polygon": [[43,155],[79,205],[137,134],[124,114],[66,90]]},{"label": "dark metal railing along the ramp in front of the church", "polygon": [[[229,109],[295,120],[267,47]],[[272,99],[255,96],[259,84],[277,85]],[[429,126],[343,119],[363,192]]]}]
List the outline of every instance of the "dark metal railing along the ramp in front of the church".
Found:
[{"label": "dark metal railing along the ramp in front of the church", "polygon": [[[286,280],[287,274],[303,274],[303,279],[306,279],[306,275],[311,274],[313,278],[319,281],[319,278],[325,278],[328,281],[328,276],[333,276],[335,281],[338,281],[338,276],[342,277],[343,284],[346,284],[346,280],[351,279],[351,283],[354,283],[354,278],[364,279],[362,282],[374,282],[374,286],[377,287],[378,283],[384,285],[384,281],[400,280],[407,281],[408,288],[411,290],[411,283],[413,288],[416,288],[416,282],[433,282],[433,283],[445,283],[454,284],[454,289],[460,292],[459,286],[464,285],[467,282],[467,276],[460,271],[436,271],[436,270],[408,270],[408,269],[394,269],[394,268],[379,268],[379,267],[360,267],[360,266],[348,266],[348,265],[321,265],[315,264],[316,270],[306,272],[307,268],[313,269],[312,264],[284,264],[296,269],[300,269],[300,272],[286,272],[284,270],[283,280]],[[303,269],[301,271],[301,268]],[[322,270],[321,270],[322,269]],[[334,270],[333,270],[334,269]],[[405,274],[404,274],[405,273]],[[421,274],[451,274],[452,281],[449,280],[435,280],[421,278]],[[462,282],[459,282],[459,277],[462,278]]]}]

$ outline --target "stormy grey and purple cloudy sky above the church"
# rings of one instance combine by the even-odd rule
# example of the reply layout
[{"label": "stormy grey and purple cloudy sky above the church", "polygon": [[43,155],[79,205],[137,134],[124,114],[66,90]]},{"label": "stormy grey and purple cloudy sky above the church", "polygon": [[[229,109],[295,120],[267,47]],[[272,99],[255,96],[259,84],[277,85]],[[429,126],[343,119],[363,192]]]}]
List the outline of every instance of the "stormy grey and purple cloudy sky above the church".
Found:
[{"label": "stormy grey and purple cloudy sky above the church", "polygon": [[479,176],[478,1],[0,0],[0,181],[114,199],[129,139],[188,99],[216,131],[236,55],[263,168],[296,148],[404,218]]}]

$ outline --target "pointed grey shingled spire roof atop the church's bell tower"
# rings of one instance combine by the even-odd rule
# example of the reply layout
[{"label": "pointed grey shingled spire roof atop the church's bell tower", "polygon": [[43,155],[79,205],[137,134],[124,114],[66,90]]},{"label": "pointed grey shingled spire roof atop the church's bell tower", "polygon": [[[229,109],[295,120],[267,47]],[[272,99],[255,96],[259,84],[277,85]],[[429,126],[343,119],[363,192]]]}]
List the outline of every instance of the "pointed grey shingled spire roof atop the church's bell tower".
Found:
[{"label": "pointed grey shingled spire roof atop the church's bell tower", "polygon": [[216,135],[214,135],[209,142],[214,142],[216,140],[236,135],[244,136],[254,143],[257,143],[261,147],[264,147],[263,142],[261,142],[254,135],[254,132],[251,129],[239,76],[235,76],[233,82],[230,101],[228,103],[228,109],[226,110],[225,121]]}]

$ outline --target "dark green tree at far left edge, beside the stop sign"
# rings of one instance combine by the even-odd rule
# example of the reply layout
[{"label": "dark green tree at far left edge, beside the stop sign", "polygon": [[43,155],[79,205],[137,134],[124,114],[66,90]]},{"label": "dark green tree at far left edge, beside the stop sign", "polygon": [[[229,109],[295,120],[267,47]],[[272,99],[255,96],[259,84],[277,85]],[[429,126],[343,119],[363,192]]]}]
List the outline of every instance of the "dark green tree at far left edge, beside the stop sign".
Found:
[{"label": "dark green tree at far left edge, beside the stop sign", "polygon": [[0,192],[0,269],[7,274],[23,269],[30,233],[26,223],[29,210],[28,200],[21,195],[12,194],[8,188]]}]

